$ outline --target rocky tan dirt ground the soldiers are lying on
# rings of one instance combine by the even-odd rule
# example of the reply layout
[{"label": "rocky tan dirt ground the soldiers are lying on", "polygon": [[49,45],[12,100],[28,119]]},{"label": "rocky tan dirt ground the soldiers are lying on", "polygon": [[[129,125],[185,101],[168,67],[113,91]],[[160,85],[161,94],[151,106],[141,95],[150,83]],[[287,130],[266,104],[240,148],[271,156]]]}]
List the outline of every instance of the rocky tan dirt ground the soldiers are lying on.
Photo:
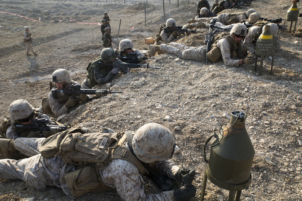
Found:
[{"label": "rocky tan dirt ground the soldiers are lying on", "polygon": [[[0,117],[4,118],[9,104],[17,99],[25,99],[38,108],[49,92],[51,74],[56,69],[67,69],[73,80],[82,83],[88,63],[97,58],[103,48],[98,23],[101,23],[104,12],[108,12],[111,19],[113,48],[121,39],[131,39],[135,48],[142,50],[149,45],[145,44],[145,38],[154,37],[168,18],[174,18],[177,25],[187,24],[187,20],[195,16],[197,3],[191,0],[179,1],[179,4],[175,0],[166,1],[164,17],[162,1],[157,0],[149,0],[146,4],[136,0],[127,0],[126,4],[111,0],[1,1]],[[268,19],[285,19],[290,6],[289,0],[256,0],[246,8],[254,8]],[[299,18],[297,27],[301,27],[301,23]],[[32,33],[38,56],[26,56],[24,26],[28,26]],[[179,41],[189,46],[201,46],[208,30],[203,32]],[[215,126],[229,121],[223,117],[224,113],[230,115],[234,110],[244,111],[255,157],[252,182],[249,189],[242,191],[241,200],[302,200],[302,146],[299,141],[302,140],[302,40],[288,30],[279,31],[279,35],[282,47],[275,52],[272,75],[269,58],[264,59],[262,76],[258,76],[254,65],[235,68],[225,66],[223,62],[206,65],[204,62],[178,60],[175,55],[156,55],[157,60],[148,61],[151,66],[161,69],[131,70],[111,82],[111,90],[124,94],[108,95],[83,104],[61,122],[71,122],[73,127],[85,127],[89,132],[99,131],[100,126],[123,131],[137,130],[149,122],[165,125],[180,148],[172,160],[197,171],[193,182],[197,193],[192,200],[200,200],[207,165],[202,157],[202,144]],[[258,61],[260,63],[260,59]],[[106,86],[99,88],[105,89]],[[165,118],[167,115],[171,120]],[[174,130],[177,126],[181,130]],[[198,162],[192,162],[185,156],[198,144],[201,145],[192,150]],[[207,149],[207,157],[209,151]],[[268,159],[274,165],[268,163]],[[223,168],[222,165],[221,171]],[[144,180],[146,192],[159,190],[148,177],[144,176]],[[221,196],[227,200],[229,192],[208,180],[205,200],[221,200]],[[56,187],[39,191],[27,187],[23,181],[1,180],[0,200],[21,201],[30,197],[40,201],[71,200]],[[121,199],[113,191],[89,193],[76,200]]]}]

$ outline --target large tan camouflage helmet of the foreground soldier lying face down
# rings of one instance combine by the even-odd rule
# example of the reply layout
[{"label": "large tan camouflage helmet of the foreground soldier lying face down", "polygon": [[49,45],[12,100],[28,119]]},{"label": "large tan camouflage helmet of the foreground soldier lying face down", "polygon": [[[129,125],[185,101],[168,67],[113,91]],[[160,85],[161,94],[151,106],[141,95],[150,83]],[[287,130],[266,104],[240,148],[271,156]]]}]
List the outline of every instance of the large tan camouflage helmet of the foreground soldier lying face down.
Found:
[{"label": "large tan camouflage helmet of the foreground soldier lying face down", "polygon": [[133,152],[145,163],[171,159],[174,145],[174,137],[169,129],[156,123],[140,127],[132,141]]}]

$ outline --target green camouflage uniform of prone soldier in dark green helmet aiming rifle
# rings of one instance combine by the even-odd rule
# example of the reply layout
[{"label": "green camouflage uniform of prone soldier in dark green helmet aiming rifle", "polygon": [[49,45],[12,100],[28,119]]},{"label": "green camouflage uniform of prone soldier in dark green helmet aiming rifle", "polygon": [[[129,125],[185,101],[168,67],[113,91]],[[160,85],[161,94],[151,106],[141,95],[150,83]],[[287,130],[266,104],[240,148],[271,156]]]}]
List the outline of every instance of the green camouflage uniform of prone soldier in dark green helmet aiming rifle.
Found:
[{"label": "green camouflage uniform of prone soldier in dark green helmet aiming rifle", "polygon": [[[114,80],[118,74],[112,74],[111,70],[112,67],[107,67],[107,68],[99,68],[98,62],[102,62],[101,58],[99,57],[99,60],[96,60],[93,64],[91,64],[90,71],[91,74],[91,79],[86,78],[83,82],[82,85],[85,89],[91,89],[95,85],[103,85],[106,83],[111,82],[111,80]],[[118,59],[116,62],[122,63],[120,59]],[[88,74],[87,73],[87,76]]]}]

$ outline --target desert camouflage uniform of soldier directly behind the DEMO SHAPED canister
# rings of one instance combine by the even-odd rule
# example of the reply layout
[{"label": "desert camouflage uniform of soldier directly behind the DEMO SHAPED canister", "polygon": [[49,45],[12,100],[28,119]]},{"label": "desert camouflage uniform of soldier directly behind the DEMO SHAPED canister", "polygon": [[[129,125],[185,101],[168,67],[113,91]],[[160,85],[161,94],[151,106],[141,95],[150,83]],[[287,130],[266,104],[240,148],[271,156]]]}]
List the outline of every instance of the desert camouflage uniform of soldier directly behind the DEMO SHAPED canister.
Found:
[{"label": "desert camouflage uniform of soldier directly behind the DEMO SHAPED canister", "polygon": [[[249,53],[255,54],[256,50],[256,41],[259,38],[259,36],[262,33],[262,28],[261,27],[251,27],[249,28],[249,32],[247,33],[243,45],[249,48]],[[279,36],[277,34],[277,38],[275,39],[275,48],[274,50],[277,51],[281,48],[281,45],[279,43]]]}]

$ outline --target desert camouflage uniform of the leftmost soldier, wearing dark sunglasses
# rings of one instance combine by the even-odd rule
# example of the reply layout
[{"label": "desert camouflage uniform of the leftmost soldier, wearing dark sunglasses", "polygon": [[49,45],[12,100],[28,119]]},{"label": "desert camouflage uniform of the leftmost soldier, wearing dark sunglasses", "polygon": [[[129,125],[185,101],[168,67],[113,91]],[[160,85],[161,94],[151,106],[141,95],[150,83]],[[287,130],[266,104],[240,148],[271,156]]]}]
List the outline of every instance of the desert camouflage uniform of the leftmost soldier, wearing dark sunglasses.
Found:
[{"label": "desert camouflage uniform of the leftmost soldier, wearing dark sunglasses", "polygon": [[[35,112],[35,116],[39,119],[41,118],[45,118],[47,119],[49,122],[48,124],[53,124],[53,121],[51,121],[51,119],[47,116],[44,115],[40,112]],[[31,132],[32,130],[23,130],[23,129],[13,129],[13,126],[10,125],[6,131],[6,137],[9,140],[16,140],[18,137],[27,137],[27,135]],[[38,137],[38,136],[36,136]],[[41,135],[40,137],[44,137],[43,135]]]}]

